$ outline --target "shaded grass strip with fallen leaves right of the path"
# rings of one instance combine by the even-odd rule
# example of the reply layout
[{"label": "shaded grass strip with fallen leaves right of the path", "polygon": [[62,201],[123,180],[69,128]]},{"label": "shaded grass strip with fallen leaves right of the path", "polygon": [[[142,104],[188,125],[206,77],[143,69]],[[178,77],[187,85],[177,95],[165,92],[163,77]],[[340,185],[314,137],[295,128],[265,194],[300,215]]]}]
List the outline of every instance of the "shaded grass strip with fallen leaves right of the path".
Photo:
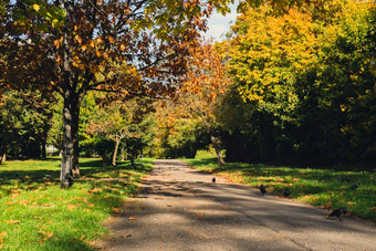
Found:
[{"label": "shaded grass strip with fallen leaves right of the path", "polygon": [[[290,197],[313,206],[332,210],[346,207],[348,215],[376,222],[376,174],[364,171],[337,171],[331,169],[268,166],[262,164],[231,163],[218,166],[217,158],[199,151],[195,159],[185,159],[190,166],[228,178],[231,181],[259,187],[269,192]],[[356,181],[356,190],[348,189]]]}]

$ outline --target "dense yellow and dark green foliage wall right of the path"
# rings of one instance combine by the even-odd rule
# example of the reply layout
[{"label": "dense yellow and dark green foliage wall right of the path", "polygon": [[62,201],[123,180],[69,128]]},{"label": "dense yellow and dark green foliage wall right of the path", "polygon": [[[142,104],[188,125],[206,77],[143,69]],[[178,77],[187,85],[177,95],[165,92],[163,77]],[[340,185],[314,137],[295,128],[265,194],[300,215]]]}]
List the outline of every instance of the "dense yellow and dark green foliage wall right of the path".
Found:
[{"label": "dense yellow and dark green foliage wall right of the path", "polygon": [[228,160],[375,163],[375,8],[243,10],[219,50],[233,83],[217,116]]}]

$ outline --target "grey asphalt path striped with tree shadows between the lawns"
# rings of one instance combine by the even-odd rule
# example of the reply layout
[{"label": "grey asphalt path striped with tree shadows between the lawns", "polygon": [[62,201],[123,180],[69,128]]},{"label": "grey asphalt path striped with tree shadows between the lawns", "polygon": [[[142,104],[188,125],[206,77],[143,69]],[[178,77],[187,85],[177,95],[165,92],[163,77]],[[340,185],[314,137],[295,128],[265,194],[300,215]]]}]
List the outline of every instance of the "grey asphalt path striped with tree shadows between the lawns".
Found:
[{"label": "grey asphalt path striped with tree shadows between the lawns", "polygon": [[103,250],[320,250],[376,251],[376,226],[290,199],[261,196],[195,170],[180,160],[159,159],[143,191],[107,222],[113,232]]}]

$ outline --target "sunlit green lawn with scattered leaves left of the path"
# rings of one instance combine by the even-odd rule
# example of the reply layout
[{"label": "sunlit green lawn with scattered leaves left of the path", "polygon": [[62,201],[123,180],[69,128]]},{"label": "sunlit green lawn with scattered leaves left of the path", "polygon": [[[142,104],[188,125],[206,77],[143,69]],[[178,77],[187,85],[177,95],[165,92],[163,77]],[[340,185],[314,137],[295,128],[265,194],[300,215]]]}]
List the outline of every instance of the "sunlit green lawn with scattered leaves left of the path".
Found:
[{"label": "sunlit green lawn with scattered leaves left of the path", "polygon": [[152,167],[152,159],[135,169],[81,159],[82,177],[63,190],[58,158],[0,165],[0,250],[94,250],[91,241],[108,233],[104,220],[119,212]]}]

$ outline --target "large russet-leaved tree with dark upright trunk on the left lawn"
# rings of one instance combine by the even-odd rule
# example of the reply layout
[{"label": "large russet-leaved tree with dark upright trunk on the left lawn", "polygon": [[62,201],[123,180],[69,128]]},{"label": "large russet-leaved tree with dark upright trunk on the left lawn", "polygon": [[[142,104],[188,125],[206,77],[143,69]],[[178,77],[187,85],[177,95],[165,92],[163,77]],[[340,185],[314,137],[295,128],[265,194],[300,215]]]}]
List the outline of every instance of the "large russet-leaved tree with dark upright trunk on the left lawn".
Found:
[{"label": "large russet-leaved tree with dark upright trunk on the left lawn", "polygon": [[[4,4],[0,49],[8,53],[1,59],[0,83],[33,85],[63,96],[63,187],[72,185],[72,175],[79,175],[80,105],[86,93],[156,96],[173,92],[178,75],[185,73],[187,45],[195,44],[205,30],[202,17],[223,3],[64,0]],[[63,12],[55,19],[41,13],[59,7]]]}]

